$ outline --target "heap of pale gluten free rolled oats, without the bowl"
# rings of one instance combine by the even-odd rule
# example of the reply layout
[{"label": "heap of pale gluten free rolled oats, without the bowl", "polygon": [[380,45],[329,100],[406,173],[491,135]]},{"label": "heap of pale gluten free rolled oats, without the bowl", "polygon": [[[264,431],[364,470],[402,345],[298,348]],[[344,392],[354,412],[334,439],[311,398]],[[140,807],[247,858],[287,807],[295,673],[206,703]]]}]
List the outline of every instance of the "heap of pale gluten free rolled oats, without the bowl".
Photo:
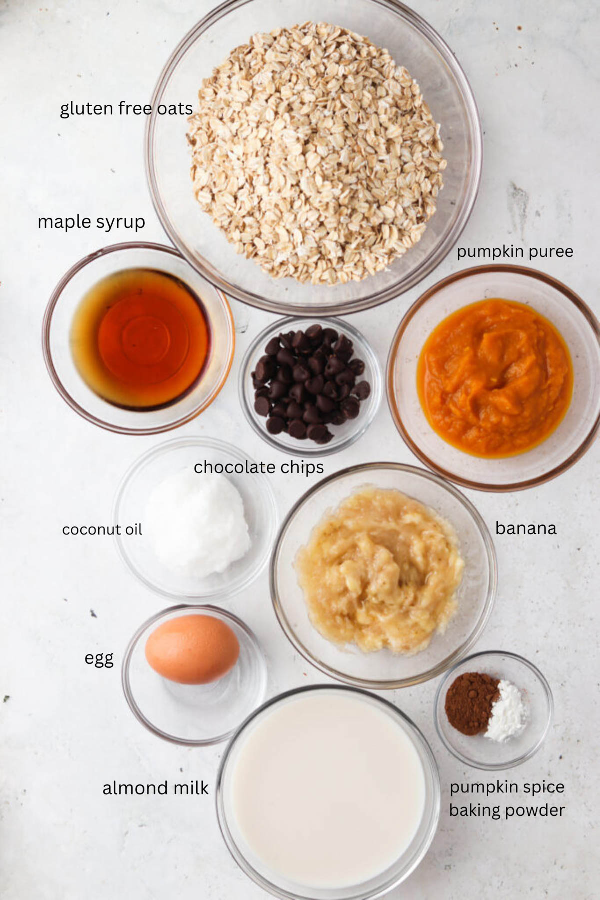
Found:
[{"label": "heap of pale gluten free rolled oats, without the bowl", "polygon": [[194,193],[269,275],[361,281],[423,236],[443,187],[440,126],[387,50],[326,23],[255,34],[199,99]]}]

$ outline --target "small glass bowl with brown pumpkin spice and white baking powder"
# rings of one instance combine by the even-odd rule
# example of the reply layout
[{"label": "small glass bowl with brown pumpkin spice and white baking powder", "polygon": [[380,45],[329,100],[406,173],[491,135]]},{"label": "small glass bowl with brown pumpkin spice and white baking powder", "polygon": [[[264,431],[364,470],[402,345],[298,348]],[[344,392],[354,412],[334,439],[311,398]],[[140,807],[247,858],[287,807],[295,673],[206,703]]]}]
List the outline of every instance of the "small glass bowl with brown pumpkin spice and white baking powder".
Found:
[{"label": "small glass bowl with brown pumpkin spice and white baking powder", "polygon": [[512,769],[548,734],[548,681],[516,653],[473,653],[450,669],[435,697],[435,727],[446,749],[474,769]]}]

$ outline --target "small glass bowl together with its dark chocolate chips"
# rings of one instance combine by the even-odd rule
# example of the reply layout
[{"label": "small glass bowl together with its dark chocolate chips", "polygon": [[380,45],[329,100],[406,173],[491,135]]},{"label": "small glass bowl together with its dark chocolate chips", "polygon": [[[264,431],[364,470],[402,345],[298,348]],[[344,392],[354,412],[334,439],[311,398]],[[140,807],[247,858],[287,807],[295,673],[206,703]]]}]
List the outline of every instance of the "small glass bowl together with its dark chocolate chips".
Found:
[{"label": "small glass bowl together with its dark chocolate chips", "polygon": [[248,349],[239,380],[246,418],[286,453],[354,444],[381,401],[381,368],[363,335],[337,319],[280,319]]}]

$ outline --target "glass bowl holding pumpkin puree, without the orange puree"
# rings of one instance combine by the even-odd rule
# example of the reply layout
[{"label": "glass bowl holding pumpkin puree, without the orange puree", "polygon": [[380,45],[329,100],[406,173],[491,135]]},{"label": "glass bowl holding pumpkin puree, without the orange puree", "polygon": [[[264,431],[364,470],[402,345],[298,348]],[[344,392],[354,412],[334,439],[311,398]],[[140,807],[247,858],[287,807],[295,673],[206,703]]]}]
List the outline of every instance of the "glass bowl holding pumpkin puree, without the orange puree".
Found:
[{"label": "glass bowl holding pumpkin puree, without the orange puree", "polygon": [[[416,366],[434,328],[463,306],[491,297],[512,300],[551,320],[569,345],[573,398],[542,444],[506,459],[482,459],[447,444],[431,428],[416,389]],[[477,491],[521,491],[548,482],[578,462],[600,425],[600,328],[576,293],[550,275],[522,266],[476,266],[434,284],[407,311],[388,360],[390,410],[400,435],[422,463]]]}]

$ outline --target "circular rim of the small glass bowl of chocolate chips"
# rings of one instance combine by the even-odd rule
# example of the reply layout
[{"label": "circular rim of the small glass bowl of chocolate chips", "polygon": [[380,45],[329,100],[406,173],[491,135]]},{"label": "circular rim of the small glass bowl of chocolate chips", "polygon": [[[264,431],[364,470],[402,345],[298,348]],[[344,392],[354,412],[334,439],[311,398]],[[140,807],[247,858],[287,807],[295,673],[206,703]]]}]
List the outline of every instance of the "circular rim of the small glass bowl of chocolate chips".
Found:
[{"label": "circular rim of the small glass bowl of chocolate chips", "polygon": [[[359,340],[363,344],[363,346],[366,347],[367,354],[369,355],[368,362],[373,372],[371,381],[371,396],[373,400],[370,406],[369,414],[363,417],[362,422],[360,422],[361,428],[358,428],[353,433],[349,433],[347,437],[343,438],[339,442],[339,444],[336,444],[336,446],[331,446],[330,444],[319,446],[318,444],[315,444],[315,446],[313,447],[308,445],[307,441],[298,441],[298,446],[288,446],[287,444],[283,444],[281,441],[278,441],[276,437],[270,435],[266,428],[260,428],[259,423],[252,415],[252,411],[250,409],[249,398],[251,397],[251,392],[248,390],[248,368],[251,357],[254,356],[256,350],[263,343],[263,341],[266,341],[270,336],[275,337],[275,334],[277,332],[286,330],[286,326],[290,326],[292,323],[295,324],[300,322],[305,323],[305,325],[309,322],[315,322],[319,325],[322,325],[324,328],[333,328],[340,331],[341,333],[346,332],[354,340]],[[239,401],[242,410],[244,410],[244,415],[246,416],[249,425],[255,430],[256,434],[259,435],[259,437],[263,438],[265,443],[267,443],[269,446],[274,447],[276,450],[281,450],[283,453],[293,456],[330,456],[338,453],[341,450],[347,449],[347,447],[349,446],[352,446],[360,437],[363,437],[365,432],[372,425],[373,419],[375,419],[375,416],[377,415],[377,412],[381,406],[381,397],[383,394],[383,373],[381,370],[381,363],[379,361],[379,358],[373,350],[370,342],[367,340],[367,338],[364,337],[363,332],[354,328],[354,325],[351,325],[350,322],[333,317],[324,318],[322,316],[314,316],[307,318],[305,316],[285,316],[283,319],[277,319],[267,325],[266,328],[264,328],[260,332],[260,334],[257,335],[252,344],[247,348],[240,365],[237,384]],[[358,423],[360,419],[361,417],[359,414],[359,416],[354,419],[354,421]]]}]

